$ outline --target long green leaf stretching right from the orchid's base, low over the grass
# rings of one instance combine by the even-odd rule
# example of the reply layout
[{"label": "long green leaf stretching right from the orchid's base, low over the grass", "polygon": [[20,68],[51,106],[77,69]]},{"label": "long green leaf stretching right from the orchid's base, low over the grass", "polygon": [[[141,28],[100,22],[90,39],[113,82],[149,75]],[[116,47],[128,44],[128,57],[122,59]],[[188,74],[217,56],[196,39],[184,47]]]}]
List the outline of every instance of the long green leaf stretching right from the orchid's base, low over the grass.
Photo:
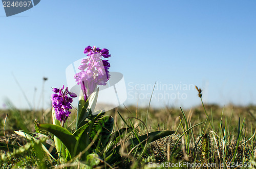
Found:
[{"label": "long green leaf stretching right from the orchid's base, low over the grass", "polygon": [[[132,143],[134,144],[134,146],[136,146],[137,144],[145,146],[146,143],[153,142],[155,140],[158,140],[160,138],[166,137],[166,136],[174,134],[174,133],[175,133],[175,131],[155,131],[155,132],[152,132],[152,133],[148,133],[148,136],[146,134],[142,135],[142,136],[139,136],[138,137],[139,140],[137,138],[129,139],[127,141],[127,142],[129,142],[129,144],[127,144],[127,147],[129,147]],[[146,138],[148,138],[147,141],[144,141]],[[113,164],[117,160],[119,160],[121,158],[121,155],[119,153],[120,148],[121,148],[121,145],[119,145],[115,149],[108,152],[106,154],[106,159],[105,159],[106,162],[108,162],[109,164]]]}]

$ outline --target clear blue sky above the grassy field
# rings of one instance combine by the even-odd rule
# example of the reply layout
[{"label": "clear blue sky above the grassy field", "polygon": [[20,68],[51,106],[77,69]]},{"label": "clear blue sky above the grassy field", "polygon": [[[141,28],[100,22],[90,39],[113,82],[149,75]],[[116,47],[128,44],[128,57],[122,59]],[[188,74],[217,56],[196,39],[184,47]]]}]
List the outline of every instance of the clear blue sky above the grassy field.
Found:
[{"label": "clear blue sky above the grassy field", "polygon": [[[13,75],[35,107],[42,105],[42,77],[49,78],[44,91],[49,107],[51,87],[67,84],[66,67],[86,56],[87,45],[110,50],[110,71],[124,76],[126,105],[138,99],[139,106],[147,105],[145,96],[152,91],[144,86],[156,81],[197,85],[206,103],[255,104],[255,6],[254,0],[44,0],[10,17],[0,7],[0,108],[6,98],[28,107]],[[194,88],[154,93],[153,106],[200,104]]]}]

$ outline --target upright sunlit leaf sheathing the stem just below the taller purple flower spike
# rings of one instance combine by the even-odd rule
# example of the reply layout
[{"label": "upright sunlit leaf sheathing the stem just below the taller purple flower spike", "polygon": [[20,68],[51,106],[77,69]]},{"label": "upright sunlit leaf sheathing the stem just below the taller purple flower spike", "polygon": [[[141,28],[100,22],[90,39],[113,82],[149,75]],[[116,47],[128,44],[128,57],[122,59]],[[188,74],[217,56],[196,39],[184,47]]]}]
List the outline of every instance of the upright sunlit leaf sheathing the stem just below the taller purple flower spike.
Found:
[{"label": "upright sunlit leaf sheathing the stem just below the taller purple flower spike", "polygon": [[[94,111],[97,103],[97,99],[98,99],[98,94],[99,94],[99,88],[97,88],[97,90],[89,96],[86,103],[83,103],[84,102],[83,96],[81,96],[78,103],[79,110],[77,111],[76,129],[79,129],[80,127],[82,127],[84,125],[84,120],[89,116],[90,111],[91,113],[92,111]],[[82,107],[82,109],[80,107]]]}]

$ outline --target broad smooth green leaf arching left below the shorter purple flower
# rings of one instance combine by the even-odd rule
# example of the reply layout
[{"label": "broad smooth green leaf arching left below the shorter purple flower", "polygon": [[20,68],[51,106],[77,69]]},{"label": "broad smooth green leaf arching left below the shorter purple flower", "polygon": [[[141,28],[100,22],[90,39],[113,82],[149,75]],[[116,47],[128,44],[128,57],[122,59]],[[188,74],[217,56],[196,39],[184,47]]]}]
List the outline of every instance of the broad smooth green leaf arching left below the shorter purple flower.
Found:
[{"label": "broad smooth green leaf arching left below the shorter purple flower", "polygon": [[71,158],[74,158],[79,152],[81,152],[78,141],[67,129],[52,124],[38,124],[38,127],[52,133],[60,139],[68,149]]}]

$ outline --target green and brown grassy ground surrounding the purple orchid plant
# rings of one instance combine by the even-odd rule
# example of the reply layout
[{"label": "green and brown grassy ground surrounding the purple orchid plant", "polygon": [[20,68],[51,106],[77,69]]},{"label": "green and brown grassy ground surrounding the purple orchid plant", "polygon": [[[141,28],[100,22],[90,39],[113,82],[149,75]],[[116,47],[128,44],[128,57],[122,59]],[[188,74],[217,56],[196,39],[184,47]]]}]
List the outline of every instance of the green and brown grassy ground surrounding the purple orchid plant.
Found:
[{"label": "green and brown grassy ground surrounding the purple orchid plant", "polygon": [[[12,109],[0,110],[0,114],[1,142],[7,141],[20,146],[25,145],[27,140],[17,136],[13,130],[24,130],[27,127],[33,132],[34,119],[37,119],[39,123],[51,123],[51,110],[42,112]],[[256,166],[254,164],[256,106],[200,105],[188,110],[169,107],[146,109],[130,106],[116,108],[106,114],[114,117],[115,131],[127,126],[134,128],[133,133],[125,135],[118,143],[122,145],[120,150],[122,160],[112,165],[114,168],[164,168],[166,166],[236,168],[238,164],[241,164],[241,168],[255,168]],[[74,128],[72,122],[75,115],[74,110],[68,125],[71,131]],[[141,149],[134,149],[136,150],[134,151],[125,147],[125,141],[135,134],[143,135],[158,130],[172,130],[175,134],[147,144],[145,148],[142,148],[146,150],[146,153]],[[14,157],[5,163],[2,164],[2,168],[8,166],[38,167],[38,161],[31,153],[28,153],[25,158]],[[48,161],[47,166],[56,166],[56,161]]]}]

